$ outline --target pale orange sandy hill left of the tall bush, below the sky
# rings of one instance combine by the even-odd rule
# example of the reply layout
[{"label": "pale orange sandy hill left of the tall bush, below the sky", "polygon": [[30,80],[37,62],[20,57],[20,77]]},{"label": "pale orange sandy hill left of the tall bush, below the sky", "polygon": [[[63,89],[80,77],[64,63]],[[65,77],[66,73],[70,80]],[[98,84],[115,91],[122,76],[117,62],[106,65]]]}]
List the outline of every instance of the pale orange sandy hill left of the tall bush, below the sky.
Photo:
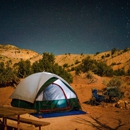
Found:
[{"label": "pale orange sandy hill left of the tall bush, below the sky", "polygon": [[0,44],[0,62],[11,60],[12,64],[19,62],[21,59],[30,60],[32,63],[42,58],[41,54],[28,49],[21,49],[16,46]]}]

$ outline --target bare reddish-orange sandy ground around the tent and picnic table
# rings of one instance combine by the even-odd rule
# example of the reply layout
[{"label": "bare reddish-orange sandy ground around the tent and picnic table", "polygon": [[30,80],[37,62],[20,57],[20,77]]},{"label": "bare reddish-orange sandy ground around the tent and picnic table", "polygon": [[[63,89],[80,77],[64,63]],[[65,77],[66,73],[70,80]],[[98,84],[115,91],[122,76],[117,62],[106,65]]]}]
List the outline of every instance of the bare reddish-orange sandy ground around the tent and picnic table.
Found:
[{"label": "bare reddish-orange sandy ground around the tent and picnic table", "polygon": [[[91,106],[85,104],[91,98],[91,88],[102,89],[103,79],[96,77],[94,83],[90,83],[84,77],[75,77],[72,87],[76,91],[82,109],[87,112],[83,115],[63,116],[55,118],[36,118],[29,114],[22,115],[30,119],[50,122],[50,125],[42,127],[42,130],[130,130],[130,110],[119,109],[113,104]],[[0,105],[10,105],[9,96],[14,88],[0,88]],[[16,122],[8,121],[9,124],[16,125]],[[33,130],[34,126],[21,123],[24,130]],[[38,130],[38,128],[36,128]]]}]

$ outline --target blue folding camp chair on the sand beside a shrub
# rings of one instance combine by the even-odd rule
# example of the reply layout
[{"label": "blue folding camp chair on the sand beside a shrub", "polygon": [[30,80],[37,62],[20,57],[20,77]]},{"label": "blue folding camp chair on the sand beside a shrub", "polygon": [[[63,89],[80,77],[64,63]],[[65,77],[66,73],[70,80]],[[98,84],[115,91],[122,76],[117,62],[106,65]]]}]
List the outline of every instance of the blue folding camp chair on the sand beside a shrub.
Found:
[{"label": "blue folding camp chair on the sand beside a shrub", "polygon": [[92,89],[92,105],[99,105],[101,102],[105,101],[105,96],[98,94],[97,89]]}]

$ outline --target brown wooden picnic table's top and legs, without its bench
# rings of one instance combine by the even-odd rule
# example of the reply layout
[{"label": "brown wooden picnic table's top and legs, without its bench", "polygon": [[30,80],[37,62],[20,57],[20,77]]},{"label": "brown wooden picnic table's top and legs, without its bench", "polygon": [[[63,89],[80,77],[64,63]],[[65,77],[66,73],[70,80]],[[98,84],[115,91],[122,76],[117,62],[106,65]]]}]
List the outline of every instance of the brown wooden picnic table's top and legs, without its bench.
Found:
[{"label": "brown wooden picnic table's top and legs, without its bench", "polygon": [[36,113],[36,110],[11,106],[0,106],[0,118],[3,118],[4,130],[7,130],[7,119],[10,116],[17,116],[17,129],[20,130],[20,115]]}]

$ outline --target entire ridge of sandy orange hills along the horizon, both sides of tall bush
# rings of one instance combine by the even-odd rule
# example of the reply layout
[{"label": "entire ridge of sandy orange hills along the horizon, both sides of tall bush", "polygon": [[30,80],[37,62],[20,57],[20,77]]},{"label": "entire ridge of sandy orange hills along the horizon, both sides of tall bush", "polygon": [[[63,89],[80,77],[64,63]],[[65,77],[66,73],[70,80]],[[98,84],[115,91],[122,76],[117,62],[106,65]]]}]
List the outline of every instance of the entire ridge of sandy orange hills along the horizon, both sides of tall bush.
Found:
[{"label": "entire ridge of sandy orange hills along the horizon, both sides of tall bush", "polygon": [[[90,56],[97,61],[103,61],[107,65],[111,65],[114,70],[124,68],[130,69],[130,48],[127,50],[116,50],[114,54],[111,51],[100,52],[97,54],[62,54],[55,56],[55,62],[63,66],[67,64],[69,67],[79,64],[84,58]],[[21,59],[30,60],[31,63],[42,58],[41,54],[28,49],[21,49],[10,44],[0,44],[0,62],[11,61],[12,65]]]}]

